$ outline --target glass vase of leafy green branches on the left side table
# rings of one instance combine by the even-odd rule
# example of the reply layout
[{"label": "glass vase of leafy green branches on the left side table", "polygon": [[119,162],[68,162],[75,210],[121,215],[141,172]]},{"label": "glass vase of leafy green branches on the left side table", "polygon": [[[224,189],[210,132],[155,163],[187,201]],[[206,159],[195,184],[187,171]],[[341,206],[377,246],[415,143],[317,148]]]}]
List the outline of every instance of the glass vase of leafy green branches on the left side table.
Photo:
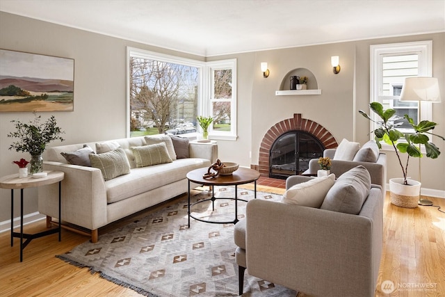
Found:
[{"label": "glass vase of leafy green branches on the left side table", "polygon": [[31,175],[42,172],[42,154],[47,144],[56,140],[64,141],[60,134],[65,133],[60,127],[57,127],[54,115],[51,115],[51,118],[43,123],[40,123],[40,118],[42,118],[40,115],[34,113],[34,116],[34,120],[28,124],[19,120],[12,120],[11,122],[15,123],[16,131],[8,134],[8,137],[19,138],[19,141],[10,145],[9,150],[15,149],[16,152],[29,152],[31,154]]}]

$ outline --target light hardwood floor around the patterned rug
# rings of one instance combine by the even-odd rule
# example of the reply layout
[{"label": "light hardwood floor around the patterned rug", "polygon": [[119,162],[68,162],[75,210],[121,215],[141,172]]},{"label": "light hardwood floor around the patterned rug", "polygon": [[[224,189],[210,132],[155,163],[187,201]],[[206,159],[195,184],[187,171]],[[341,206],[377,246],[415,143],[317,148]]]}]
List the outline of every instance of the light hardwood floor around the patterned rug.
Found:
[{"label": "light hardwood floor around the patterned rug", "polygon": [[[258,186],[258,191],[268,189],[270,187]],[[283,193],[284,189],[275,188],[275,191]],[[445,199],[430,200],[445,210]],[[165,207],[165,204],[150,211],[161,207]],[[395,207],[389,203],[389,195],[383,211],[383,253],[375,296],[443,296],[445,214],[437,211],[437,207]],[[126,225],[148,212],[140,212],[101,228],[99,235]],[[34,233],[45,228],[46,223],[41,220],[26,225],[25,231]],[[88,268],[72,266],[54,257],[86,240],[86,236],[67,230],[62,231],[61,242],[58,242],[57,234],[34,239],[24,249],[24,261],[20,263],[18,239],[11,247],[10,233],[1,233],[0,296],[140,296],[131,289],[100,278],[98,273],[92,275]],[[396,290],[385,294],[383,290],[389,287],[382,289],[384,281],[390,281],[385,284],[392,282]]]}]

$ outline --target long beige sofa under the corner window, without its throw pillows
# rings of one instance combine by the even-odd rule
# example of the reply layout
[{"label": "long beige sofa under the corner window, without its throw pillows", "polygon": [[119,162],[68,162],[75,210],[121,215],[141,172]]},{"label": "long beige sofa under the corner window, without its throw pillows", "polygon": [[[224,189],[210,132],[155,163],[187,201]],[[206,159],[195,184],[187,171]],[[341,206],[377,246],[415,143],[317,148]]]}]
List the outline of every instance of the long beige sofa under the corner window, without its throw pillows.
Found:
[{"label": "long beige sofa under the corner window, without its throw pillows", "polygon": [[[191,142],[186,158],[137,168],[131,147],[146,145],[144,137],[122,138],[99,145],[104,147],[110,143],[118,144],[124,150],[131,168],[129,174],[104,180],[99,168],[69,164],[61,154],[75,152],[85,144],[96,150],[98,143],[51,147],[44,156],[44,170],[65,172],[62,182],[62,220],[65,227],[74,227],[75,231],[86,229],[84,233],[91,234],[92,242],[97,241],[99,227],[186,193],[187,172],[209,167],[218,158],[218,145],[215,143]],[[47,225],[51,225],[51,217],[58,218],[57,193],[56,186],[39,188],[38,209],[47,215]]]}]

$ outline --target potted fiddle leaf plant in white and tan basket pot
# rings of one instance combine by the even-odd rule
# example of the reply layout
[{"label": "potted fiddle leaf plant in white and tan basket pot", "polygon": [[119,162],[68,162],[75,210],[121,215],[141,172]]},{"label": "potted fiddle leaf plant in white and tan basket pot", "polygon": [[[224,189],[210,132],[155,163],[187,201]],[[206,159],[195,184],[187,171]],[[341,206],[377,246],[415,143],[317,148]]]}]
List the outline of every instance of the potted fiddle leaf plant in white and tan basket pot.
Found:
[{"label": "potted fiddle leaf plant in white and tan basket pot", "polygon": [[[407,120],[413,131],[403,133],[397,129],[398,126],[403,124],[402,122],[397,121],[402,120],[403,118],[396,115],[394,109],[385,110],[379,102],[372,102],[369,104],[369,107],[371,111],[378,115],[380,120],[373,120],[364,111],[360,110],[359,113],[378,125],[378,128],[373,131],[375,143],[377,143],[380,149],[382,148],[382,145],[380,144],[381,141],[391,145],[394,152],[396,152],[398,163],[402,170],[403,178],[389,180],[391,203],[399,207],[417,207],[421,183],[408,177],[410,157],[423,157],[420,150],[420,145],[423,145],[425,146],[426,156],[431,159],[437,159],[440,151],[434,143],[430,142],[430,136],[437,136],[444,141],[445,138],[431,132],[431,130],[436,127],[437,123],[430,122],[429,120],[421,120],[416,124],[409,115],[405,115],[403,118]],[[403,161],[403,154],[407,154],[406,161]]]}]

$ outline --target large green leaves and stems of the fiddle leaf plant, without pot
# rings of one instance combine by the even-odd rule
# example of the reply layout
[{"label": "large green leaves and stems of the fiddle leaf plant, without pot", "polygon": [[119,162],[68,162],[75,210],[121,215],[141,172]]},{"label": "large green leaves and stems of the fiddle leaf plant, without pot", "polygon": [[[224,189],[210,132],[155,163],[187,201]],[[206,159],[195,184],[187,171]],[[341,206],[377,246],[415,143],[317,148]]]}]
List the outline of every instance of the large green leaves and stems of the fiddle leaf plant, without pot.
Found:
[{"label": "large green leaves and stems of the fiddle leaf plant, without pot", "polygon": [[[401,120],[400,116],[396,115],[396,110],[387,109],[384,110],[382,104],[379,102],[372,102],[369,104],[371,111],[379,116],[381,120],[375,121],[364,111],[359,111],[365,118],[371,120],[371,122],[375,122],[379,125],[377,129],[373,131],[375,143],[377,143],[379,148],[382,148],[380,141],[385,141],[388,145],[394,147],[394,151],[396,152],[398,163],[400,164],[403,172],[403,184],[407,183],[407,174],[408,174],[408,164],[410,161],[410,156],[414,158],[421,158],[423,156],[421,150],[419,149],[419,145],[425,145],[426,156],[431,159],[437,159],[440,154],[439,149],[434,143],[430,142],[430,138],[428,135],[437,136],[442,138],[445,141],[445,138],[439,136],[437,134],[432,134],[430,130],[434,129],[437,125],[435,122],[430,122],[428,120],[422,120],[419,124],[415,124],[414,120],[410,118],[409,115],[405,115],[405,118],[414,132],[412,133],[402,133],[398,129],[398,126],[402,125],[402,122],[396,122],[397,120]],[[398,142],[400,139],[405,141]],[[405,166],[402,163],[401,154],[407,153],[407,160]]]}]

